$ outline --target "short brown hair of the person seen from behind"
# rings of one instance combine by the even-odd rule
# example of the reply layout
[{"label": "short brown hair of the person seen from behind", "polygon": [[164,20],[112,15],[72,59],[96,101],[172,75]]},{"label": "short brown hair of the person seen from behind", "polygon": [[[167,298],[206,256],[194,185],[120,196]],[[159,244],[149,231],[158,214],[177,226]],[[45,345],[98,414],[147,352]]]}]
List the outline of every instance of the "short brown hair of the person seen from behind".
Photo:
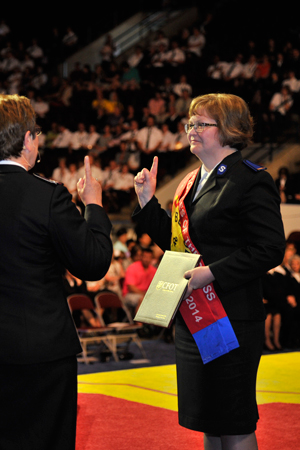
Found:
[{"label": "short brown hair of the person seen from behind", "polygon": [[35,136],[35,120],[28,98],[0,95],[0,160],[21,155],[26,132]]}]

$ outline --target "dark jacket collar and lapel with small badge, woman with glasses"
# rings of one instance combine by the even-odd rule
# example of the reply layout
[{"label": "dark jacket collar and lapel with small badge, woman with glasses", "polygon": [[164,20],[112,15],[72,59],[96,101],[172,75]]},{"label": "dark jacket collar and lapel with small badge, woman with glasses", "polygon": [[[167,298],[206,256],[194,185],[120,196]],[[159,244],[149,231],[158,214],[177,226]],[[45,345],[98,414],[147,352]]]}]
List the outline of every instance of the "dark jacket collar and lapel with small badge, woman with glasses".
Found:
[{"label": "dark jacket collar and lapel with small badge, woman with glasses", "polygon": [[[223,159],[223,161],[221,161],[212,171],[212,173],[210,174],[210,176],[208,177],[208,180],[206,181],[206,183],[204,184],[203,188],[200,190],[200,192],[198,193],[197,197],[195,198],[194,201],[192,201],[192,203],[196,203],[200,200],[200,198],[202,198],[205,194],[207,194],[209,191],[211,191],[218,183],[218,181],[220,181],[220,179],[222,178],[226,178],[226,175],[228,174],[228,171],[230,170],[230,168],[237,162],[240,161],[242,159],[241,156],[241,152],[236,151],[235,153],[232,153],[229,156],[226,156],[226,158]],[[192,196],[191,199],[194,198],[195,192],[197,190],[197,186],[200,180],[200,176],[201,176],[201,170],[199,170],[194,186],[192,188]]]}]

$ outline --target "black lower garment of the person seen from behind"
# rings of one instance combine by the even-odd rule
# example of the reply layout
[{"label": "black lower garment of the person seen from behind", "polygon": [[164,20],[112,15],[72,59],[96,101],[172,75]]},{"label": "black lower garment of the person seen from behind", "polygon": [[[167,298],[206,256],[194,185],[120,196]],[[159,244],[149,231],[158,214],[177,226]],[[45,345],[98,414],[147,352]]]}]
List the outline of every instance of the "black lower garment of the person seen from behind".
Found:
[{"label": "black lower garment of the person seen from behind", "polygon": [[0,364],[0,448],[74,450],[76,356],[39,364]]}]

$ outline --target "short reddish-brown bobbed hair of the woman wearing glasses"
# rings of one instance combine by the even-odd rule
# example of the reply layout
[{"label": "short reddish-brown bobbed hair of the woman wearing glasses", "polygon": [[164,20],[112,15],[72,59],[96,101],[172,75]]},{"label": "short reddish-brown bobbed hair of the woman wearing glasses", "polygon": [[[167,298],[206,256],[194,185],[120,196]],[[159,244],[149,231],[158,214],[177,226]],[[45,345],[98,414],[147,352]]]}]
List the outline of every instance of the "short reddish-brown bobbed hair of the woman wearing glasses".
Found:
[{"label": "short reddish-brown bobbed hair of the woman wearing glasses", "polygon": [[246,102],[233,94],[205,94],[192,100],[189,117],[206,113],[218,125],[219,139],[223,147],[242,150],[253,137],[253,118]]}]

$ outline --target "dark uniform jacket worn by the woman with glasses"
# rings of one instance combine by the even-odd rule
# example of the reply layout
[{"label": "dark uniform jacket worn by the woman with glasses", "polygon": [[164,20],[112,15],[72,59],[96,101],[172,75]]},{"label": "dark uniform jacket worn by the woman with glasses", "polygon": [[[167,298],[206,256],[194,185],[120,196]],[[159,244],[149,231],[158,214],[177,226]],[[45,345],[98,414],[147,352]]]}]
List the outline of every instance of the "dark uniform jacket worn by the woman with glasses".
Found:
[{"label": "dark uniform jacket worn by the woman with glasses", "polygon": [[[200,170],[185,199],[189,234],[215,277],[214,287],[232,320],[264,320],[261,277],[282,262],[285,236],[280,198],[271,175],[227,156],[195,201]],[[170,249],[171,219],[153,197],[133,214],[162,249]]]}]

